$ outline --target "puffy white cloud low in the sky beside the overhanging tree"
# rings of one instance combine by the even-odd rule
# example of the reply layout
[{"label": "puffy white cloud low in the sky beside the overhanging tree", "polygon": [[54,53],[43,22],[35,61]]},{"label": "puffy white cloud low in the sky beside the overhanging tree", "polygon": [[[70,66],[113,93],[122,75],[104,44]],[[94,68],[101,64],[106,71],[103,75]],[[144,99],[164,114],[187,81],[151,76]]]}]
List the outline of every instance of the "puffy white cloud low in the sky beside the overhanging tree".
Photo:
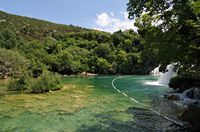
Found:
[{"label": "puffy white cloud low in the sky beside the overhanging tree", "polygon": [[111,33],[118,30],[127,29],[133,29],[136,31],[137,28],[134,26],[134,21],[128,19],[128,13],[120,12],[120,14],[123,15],[123,18],[121,19],[116,17],[113,12],[111,12],[110,14],[106,12],[98,14],[95,19],[94,29]]}]

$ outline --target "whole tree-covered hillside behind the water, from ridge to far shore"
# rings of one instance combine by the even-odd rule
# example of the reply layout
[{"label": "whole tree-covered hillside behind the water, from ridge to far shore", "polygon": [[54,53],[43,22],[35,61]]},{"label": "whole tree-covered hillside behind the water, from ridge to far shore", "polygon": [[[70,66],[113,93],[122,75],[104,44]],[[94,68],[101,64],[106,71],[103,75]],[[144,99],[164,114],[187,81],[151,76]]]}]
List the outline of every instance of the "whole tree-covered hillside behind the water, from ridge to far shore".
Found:
[{"label": "whole tree-covered hillside behind the water, from ridge to far shore", "polygon": [[110,34],[4,12],[0,18],[1,48],[14,48],[30,60],[34,77],[43,70],[63,75],[148,74],[157,65],[155,56],[147,54],[140,35],[132,30]]}]

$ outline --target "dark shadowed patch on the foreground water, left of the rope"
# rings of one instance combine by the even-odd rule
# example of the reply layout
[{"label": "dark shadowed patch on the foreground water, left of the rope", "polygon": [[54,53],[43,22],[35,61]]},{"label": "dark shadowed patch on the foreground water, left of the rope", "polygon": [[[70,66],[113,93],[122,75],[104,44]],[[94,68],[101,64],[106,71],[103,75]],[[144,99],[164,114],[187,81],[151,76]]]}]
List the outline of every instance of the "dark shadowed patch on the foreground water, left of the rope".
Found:
[{"label": "dark shadowed patch on the foreground water, left of the rope", "polygon": [[[80,132],[189,132],[188,129],[167,122],[143,108],[130,107],[125,111],[132,114],[132,121],[122,122],[109,115],[98,115],[104,118],[93,126],[83,125]],[[106,120],[105,120],[106,119]]]}]

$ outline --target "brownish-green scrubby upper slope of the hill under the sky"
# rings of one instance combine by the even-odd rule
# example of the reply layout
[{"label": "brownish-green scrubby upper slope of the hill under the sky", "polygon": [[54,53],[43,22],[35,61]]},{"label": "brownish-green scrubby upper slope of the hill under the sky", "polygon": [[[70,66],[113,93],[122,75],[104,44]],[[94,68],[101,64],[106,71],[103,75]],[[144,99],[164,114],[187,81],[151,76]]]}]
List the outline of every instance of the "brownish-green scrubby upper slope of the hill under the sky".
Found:
[{"label": "brownish-green scrubby upper slope of the hill under the sky", "polygon": [[69,32],[86,32],[91,29],[73,25],[55,24],[35,18],[12,15],[0,11],[0,30],[10,29],[25,38],[43,39],[46,36],[62,35]]}]

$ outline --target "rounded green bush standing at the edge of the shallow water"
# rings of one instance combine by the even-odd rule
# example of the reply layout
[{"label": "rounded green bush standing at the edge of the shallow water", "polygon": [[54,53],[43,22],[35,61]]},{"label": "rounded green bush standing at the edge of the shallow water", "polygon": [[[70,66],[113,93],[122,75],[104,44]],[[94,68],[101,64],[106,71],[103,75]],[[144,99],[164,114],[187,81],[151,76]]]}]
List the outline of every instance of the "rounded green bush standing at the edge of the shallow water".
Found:
[{"label": "rounded green bush standing at the edge of the shallow water", "polygon": [[31,82],[32,93],[45,93],[59,90],[61,88],[61,78],[50,72],[43,72],[38,78]]}]

